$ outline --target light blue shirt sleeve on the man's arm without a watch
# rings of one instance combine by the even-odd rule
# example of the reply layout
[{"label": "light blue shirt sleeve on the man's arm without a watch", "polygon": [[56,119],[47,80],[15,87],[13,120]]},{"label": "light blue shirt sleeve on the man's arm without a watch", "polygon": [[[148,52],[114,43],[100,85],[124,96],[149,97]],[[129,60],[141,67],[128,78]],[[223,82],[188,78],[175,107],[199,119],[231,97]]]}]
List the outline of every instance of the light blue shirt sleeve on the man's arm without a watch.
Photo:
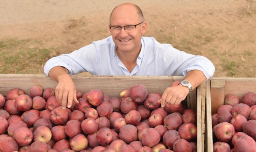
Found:
[{"label": "light blue shirt sleeve on the man's arm without a watch", "polygon": [[62,54],[48,60],[44,66],[44,73],[48,76],[50,70],[55,66],[63,66],[68,74],[91,72],[98,66],[98,54],[94,43],[89,44],[70,54]]}]

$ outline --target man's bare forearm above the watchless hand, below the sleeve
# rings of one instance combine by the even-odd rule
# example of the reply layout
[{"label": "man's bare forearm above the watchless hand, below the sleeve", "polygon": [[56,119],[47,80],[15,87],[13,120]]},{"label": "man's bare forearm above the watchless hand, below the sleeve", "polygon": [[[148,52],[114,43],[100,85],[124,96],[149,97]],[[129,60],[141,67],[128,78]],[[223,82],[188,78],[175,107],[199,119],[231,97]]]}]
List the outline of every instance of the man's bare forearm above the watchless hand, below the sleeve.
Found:
[{"label": "man's bare forearm above the watchless hand, below the sleeve", "polygon": [[50,70],[48,75],[50,78],[56,80],[57,82],[59,82],[60,79],[69,76],[68,70],[62,66],[55,66]]}]

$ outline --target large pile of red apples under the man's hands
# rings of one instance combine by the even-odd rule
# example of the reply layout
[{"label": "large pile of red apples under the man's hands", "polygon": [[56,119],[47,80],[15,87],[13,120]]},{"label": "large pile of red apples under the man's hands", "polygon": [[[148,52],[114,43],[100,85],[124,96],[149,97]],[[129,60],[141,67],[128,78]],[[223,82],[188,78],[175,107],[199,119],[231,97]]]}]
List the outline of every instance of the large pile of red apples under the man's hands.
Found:
[{"label": "large pile of red apples under the man's hands", "polygon": [[62,108],[52,88],[0,94],[0,152],[196,152],[196,111],[184,103],[162,108],[142,84],[76,96]]}]

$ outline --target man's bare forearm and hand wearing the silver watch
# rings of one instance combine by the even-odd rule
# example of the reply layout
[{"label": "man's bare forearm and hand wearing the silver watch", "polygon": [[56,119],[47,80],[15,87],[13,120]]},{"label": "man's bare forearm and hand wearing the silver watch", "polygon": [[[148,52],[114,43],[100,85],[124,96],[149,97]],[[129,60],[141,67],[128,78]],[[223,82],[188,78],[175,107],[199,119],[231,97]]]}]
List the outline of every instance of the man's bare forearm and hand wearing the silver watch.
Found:
[{"label": "man's bare forearm and hand wearing the silver watch", "polygon": [[[186,74],[184,80],[190,82],[193,90],[206,80],[206,76],[200,70],[191,70]],[[188,93],[189,89],[186,86],[178,85],[168,87],[164,91],[162,98],[158,100],[158,103],[161,103],[161,107],[164,107],[165,104],[180,104],[180,102],[186,98]]]}]

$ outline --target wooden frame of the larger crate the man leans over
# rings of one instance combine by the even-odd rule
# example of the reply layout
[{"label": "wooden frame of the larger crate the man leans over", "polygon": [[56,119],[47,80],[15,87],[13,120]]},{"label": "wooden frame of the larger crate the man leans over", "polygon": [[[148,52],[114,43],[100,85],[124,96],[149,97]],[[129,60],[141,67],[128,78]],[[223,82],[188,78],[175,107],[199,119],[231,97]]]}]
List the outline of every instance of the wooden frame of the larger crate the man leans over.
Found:
[{"label": "wooden frame of the larger crate the man leans over", "polygon": [[[183,80],[182,76],[71,76],[76,89],[82,93],[99,88],[111,97],[118,97],[124,89],[129,89],[135,84],[143,84],[148,93],[163,93],[174,81]],[[42,88],[55,88],[57,82],[45,75],[32,74],[0,74],[0,93],[6,96],[8,90],[20,88],[28,94],[32,86]],[[200,86],[187,96],[187,107],[197,111],[197,151],[202,152],[202,106]]]}]

